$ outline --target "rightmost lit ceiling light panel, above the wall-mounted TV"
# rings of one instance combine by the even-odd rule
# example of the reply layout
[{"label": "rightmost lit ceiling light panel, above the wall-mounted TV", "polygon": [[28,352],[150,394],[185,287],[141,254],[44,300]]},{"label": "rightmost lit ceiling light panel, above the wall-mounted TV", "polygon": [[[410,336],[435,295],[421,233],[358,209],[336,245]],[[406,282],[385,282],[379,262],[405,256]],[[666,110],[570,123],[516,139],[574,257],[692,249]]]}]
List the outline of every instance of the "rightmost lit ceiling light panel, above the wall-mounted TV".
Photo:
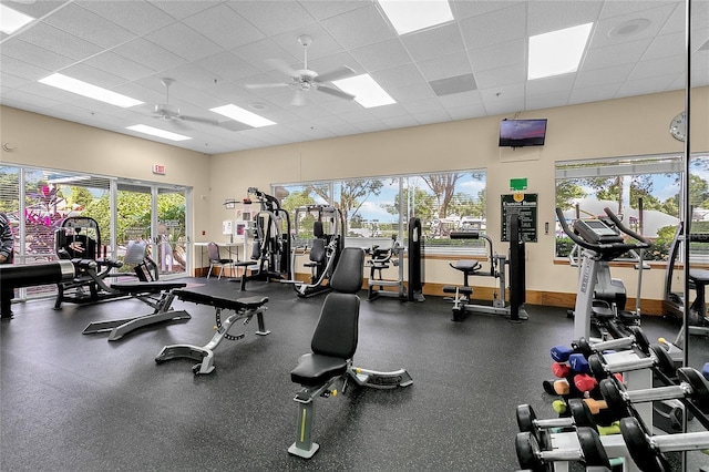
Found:
[{"label": "rightmost lit ceiling light panel, above the wall-mounted TV", "polygon": [[530,37],[527,79],[576,72],[593,25],[586,23]]}]

